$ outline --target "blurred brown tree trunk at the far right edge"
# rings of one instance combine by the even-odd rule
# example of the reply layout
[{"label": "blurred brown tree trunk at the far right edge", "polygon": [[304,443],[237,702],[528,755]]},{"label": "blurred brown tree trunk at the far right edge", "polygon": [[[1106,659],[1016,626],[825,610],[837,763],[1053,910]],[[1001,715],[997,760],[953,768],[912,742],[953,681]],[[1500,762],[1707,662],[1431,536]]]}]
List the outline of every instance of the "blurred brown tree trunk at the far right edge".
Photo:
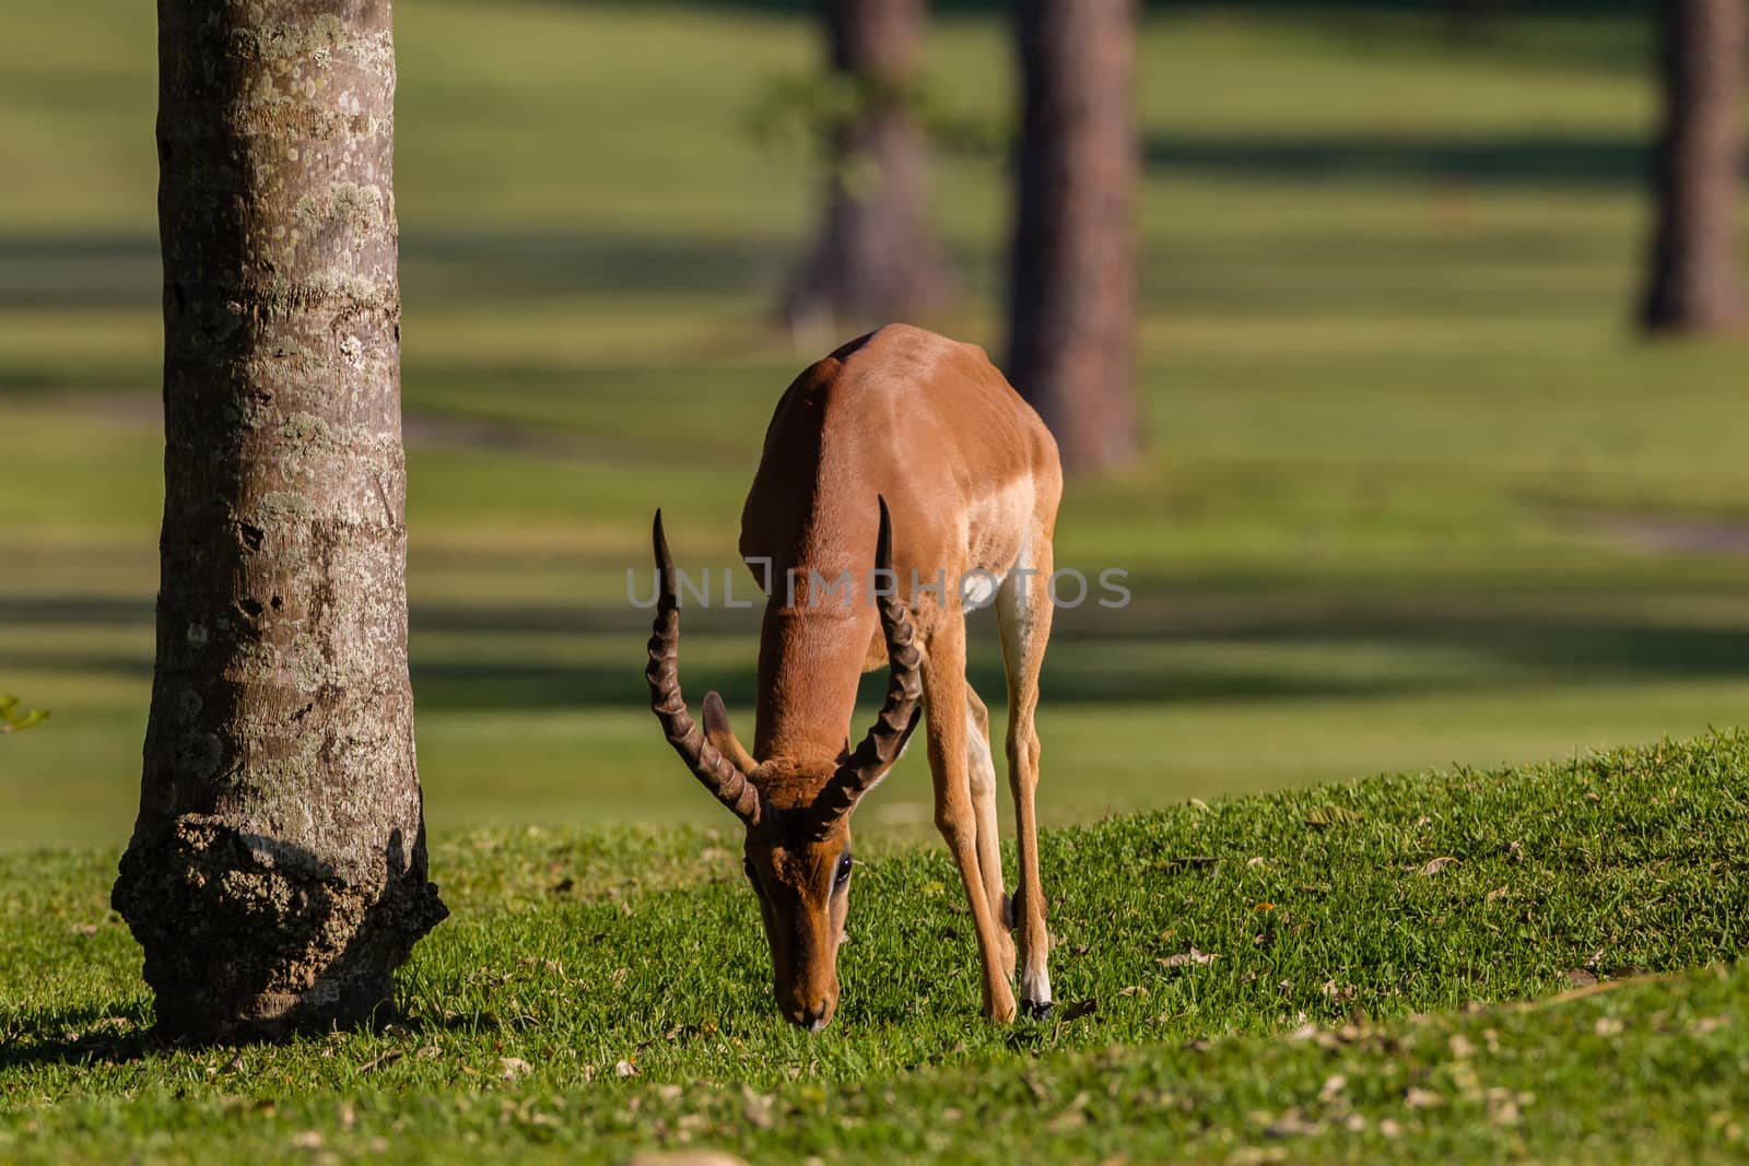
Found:
[{"label": "blurred brown tree trunk at the far right edge", "polygon": [[1744,142],[1744,0],[1667,0],[1656,227],[1641,318],[1653,332],[1744,322],[1737,201]]}]

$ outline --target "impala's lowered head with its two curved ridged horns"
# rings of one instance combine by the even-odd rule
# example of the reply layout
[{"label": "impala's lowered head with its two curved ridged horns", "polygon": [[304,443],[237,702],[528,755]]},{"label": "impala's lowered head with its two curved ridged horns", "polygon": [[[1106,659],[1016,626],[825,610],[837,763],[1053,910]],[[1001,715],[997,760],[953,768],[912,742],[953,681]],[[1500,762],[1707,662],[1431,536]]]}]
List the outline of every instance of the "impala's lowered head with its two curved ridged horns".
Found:
[{"label": "impala's lowered head with its two curved ridged horns", "polygon": [[[703,725],[686,708],[679,678],[680,600],[661,510],[654,544],[661,589],[645,673],[651,708],[693,774],[747,827],[742,864],[759,895],[778,1009],[792,1024],[819,1031],[838,1009],[838,944],[850,909],[850,811],[899,759],[920,715],[922,657],[904,603],[897,596],[878,598],[890,670],[887,701],[862,743],[841,760],[815,767],[775,760],[759,766],[729,731],[722,698],[705,696]],[[885,500],[874,565],[892,570]]]}]

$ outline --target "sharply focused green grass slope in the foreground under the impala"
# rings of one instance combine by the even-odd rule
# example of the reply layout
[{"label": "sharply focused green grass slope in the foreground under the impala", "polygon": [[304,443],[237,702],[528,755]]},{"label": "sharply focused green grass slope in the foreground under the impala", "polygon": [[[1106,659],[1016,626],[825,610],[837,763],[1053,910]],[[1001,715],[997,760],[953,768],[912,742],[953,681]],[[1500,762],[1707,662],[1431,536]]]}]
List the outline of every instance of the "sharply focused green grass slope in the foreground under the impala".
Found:
[{"label": "sharply focused green grass slope in the foreground under the impala", "polygon": [[14,855],[0,1157],[1740,1154],[1746,776],[1719,734],[1049,832],[1058,1014],[1013,1028],[941,848],[874,844],[820,1037],[775,1016],[719,834],[453,834],[406,1016],[236,1051],[143,1035],[108,855]]}]

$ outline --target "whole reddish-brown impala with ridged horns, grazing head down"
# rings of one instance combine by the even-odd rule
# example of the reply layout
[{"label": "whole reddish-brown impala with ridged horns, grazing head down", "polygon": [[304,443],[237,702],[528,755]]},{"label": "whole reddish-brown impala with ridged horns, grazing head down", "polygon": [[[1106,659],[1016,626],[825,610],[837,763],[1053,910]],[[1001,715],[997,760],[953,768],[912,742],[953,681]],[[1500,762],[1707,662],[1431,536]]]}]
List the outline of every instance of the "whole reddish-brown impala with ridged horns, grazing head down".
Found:
[{"label": "whole reddish-brown impala with ridged horns, grazing head down", "polygon": [[[715,692],[705,696],[703,727],[680,698],[679,589],[656,514],[651,706],[675,752],[747,825],[747,879],[764,914],[777,1000],[803,1028],[826,1028],[838,1007],[850,811],[920,718],[936,825],[978,928],[985,1012],[1014,1016],[1009,920],[1020,932],[1021,1003],[1034,1016],[1051,1007],[1034,710],[1060,496],[1056,442],[983,350],[890,325],[806,369],[777,406],[742,510],[742,554],[770,563],[752,750],[735,738]],[[965,680],[962,580],[979,603],[993,587],[1002,629],[1020,834],[1011,913],[988,715]],[[850,748],[857,680],[881,663],[885,706]]]}]

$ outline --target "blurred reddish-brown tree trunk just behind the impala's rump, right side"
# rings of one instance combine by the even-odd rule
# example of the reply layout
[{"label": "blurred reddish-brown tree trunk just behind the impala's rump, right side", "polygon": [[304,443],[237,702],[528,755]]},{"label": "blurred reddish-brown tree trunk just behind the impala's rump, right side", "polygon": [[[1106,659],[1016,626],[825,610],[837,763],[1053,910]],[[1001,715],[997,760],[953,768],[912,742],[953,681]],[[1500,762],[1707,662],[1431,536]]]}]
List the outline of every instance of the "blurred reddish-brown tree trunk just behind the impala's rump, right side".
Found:
[{"label": "blurred reddish-brown tree trunk just behind the impala's rump, right side", "polygon": [[1007,372],[1069,470],[1140,453],[1133,0],[1020,0],[1020,198]]}]

